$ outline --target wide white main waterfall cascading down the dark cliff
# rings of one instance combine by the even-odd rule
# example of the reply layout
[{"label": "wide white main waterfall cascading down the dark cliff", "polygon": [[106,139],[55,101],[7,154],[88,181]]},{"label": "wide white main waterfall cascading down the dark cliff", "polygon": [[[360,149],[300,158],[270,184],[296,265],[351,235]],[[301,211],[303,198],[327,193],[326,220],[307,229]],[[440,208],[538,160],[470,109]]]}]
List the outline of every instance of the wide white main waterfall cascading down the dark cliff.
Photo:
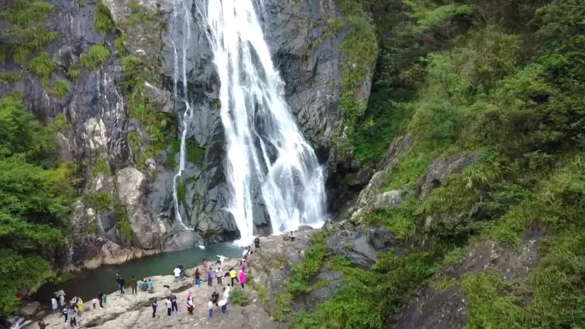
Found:
[{"label": "wide white main waterfall cascading down the dark cliff", "polygon": [[208,0],[206,16],[221,82],[226,174],[233,193],[229,210],[242,241],[253,236],[253,208],[260,193],[274,234],[321,224],[323,170],[284,100],[284,83],[252,0]]}]

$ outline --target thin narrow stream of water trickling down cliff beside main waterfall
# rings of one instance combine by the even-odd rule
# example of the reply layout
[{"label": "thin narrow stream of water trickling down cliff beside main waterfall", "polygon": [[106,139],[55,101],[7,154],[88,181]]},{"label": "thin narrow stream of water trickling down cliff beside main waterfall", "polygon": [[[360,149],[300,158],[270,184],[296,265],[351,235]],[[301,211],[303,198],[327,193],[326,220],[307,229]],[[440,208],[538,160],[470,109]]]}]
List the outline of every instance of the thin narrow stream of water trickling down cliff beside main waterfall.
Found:
[{"label": "thin narrow stream of water trickling down cliff beside main waterfall", "polygon": [[[183,40],[180,40],[181,49],[177,49],[176,40],[173,40],[173,35],[180,35],[180,33],[173,33],[174,29],[177,26],[180,26],[178,23],[178,19],[180,18],[179,12],[182,12],[181,18],[183,18]],[[185,0],[173,0],[173,21],[171,22],[171,33],[170,33],[170,40],[171,44],[173,44],[174,50],[174,74],[173,74],[173,93],[175,101],[181,101],[185,104],[185,112],[183,113],[183,117],[181,118],[181,125],[183,126],[183,131],[181,131],[181,149],[179,152],[179,168],[177,170],[177,174],[173,177],[173,201],[175,205],[175,221],[177,225],[183,226],[184,229],[187,229],[183,222],[183,218],[181,218],[181,212],[179,210],[179,200],[177,196],[177,180],[181,179],[181,174],[183,170],[185,170],[185,154],[187,153],[187,131],[193,118],[193,109],[191,104],[187,101],[187,50],[191,46],[191,12],[185,4]],[[178,40],[177,40],[178,41]],[[179,61],[179,52],[181,52],[181,61]],[[179,70],[181,67],[181,70]],[[179,72],[181,71],[181,72]],[[178,94],[177,90],[177,82],[181,79],[183,83],[183,97]],[[170,156],[170,155],[169,155]],[[174,156],[174,155],[172,155]]]}]

